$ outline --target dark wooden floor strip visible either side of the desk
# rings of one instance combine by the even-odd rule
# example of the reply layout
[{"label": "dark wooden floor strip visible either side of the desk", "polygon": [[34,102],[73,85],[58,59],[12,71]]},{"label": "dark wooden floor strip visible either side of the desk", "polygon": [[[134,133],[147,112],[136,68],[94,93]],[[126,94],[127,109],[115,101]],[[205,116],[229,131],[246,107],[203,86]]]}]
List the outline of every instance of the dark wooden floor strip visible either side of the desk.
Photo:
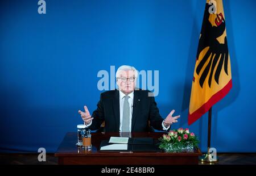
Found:
[{"label": "dark wooden floor strip visible either side of the desk", "polygon": [[[218,158],[218,165],[256,165],[256,153],[219,153]],[[47,154],[46,162],[39,162],[38,154],[0,154],[0,164],[57,165],[57,158]]]}]

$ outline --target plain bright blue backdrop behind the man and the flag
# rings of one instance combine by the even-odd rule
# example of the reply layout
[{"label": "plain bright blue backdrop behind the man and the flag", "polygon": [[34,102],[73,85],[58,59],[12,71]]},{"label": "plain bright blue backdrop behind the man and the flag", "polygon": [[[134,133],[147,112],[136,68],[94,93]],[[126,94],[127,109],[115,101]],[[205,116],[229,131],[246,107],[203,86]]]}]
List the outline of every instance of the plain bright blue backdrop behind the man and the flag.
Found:
[{"label": "plain bright blue backdrop behind the man and the flag", "polygon": [[[100,98],[99,70],[159,70],[160,114],[187,115],[205,1],[1,1],[1,152],[55,152]],[[217,152],[256,152],[256,2],[224,1],[233,88],[213,107]],[[207,148],[207,115],[189,128]]]}]

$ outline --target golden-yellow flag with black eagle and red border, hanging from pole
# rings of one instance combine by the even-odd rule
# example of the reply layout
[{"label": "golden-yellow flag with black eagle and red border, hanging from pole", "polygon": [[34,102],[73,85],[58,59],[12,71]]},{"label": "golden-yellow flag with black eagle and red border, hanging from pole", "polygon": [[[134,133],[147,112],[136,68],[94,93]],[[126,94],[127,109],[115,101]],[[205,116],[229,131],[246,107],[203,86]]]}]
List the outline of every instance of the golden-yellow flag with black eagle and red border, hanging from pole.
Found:
[{"label": "golden-yellow flag with black eagle and red border, hanging from pole", "polygon": [[196,54],[188,124],[205,114],[232,88],[222,0],[207,0]]}]

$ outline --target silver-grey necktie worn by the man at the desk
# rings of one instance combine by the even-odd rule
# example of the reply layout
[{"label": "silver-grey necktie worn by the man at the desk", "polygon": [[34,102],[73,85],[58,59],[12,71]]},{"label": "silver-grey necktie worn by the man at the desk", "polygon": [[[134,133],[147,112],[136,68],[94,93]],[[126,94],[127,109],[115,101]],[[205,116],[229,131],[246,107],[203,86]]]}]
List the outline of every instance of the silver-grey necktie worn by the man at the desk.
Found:
[{"label": "silver-grey necktie worn by the man at the desk", "polygon": [[129,96],[125,95],[125,102],[123,102],[123,122],[122,122],[122,132],[130,132],[130,105],[128,102]]}]

